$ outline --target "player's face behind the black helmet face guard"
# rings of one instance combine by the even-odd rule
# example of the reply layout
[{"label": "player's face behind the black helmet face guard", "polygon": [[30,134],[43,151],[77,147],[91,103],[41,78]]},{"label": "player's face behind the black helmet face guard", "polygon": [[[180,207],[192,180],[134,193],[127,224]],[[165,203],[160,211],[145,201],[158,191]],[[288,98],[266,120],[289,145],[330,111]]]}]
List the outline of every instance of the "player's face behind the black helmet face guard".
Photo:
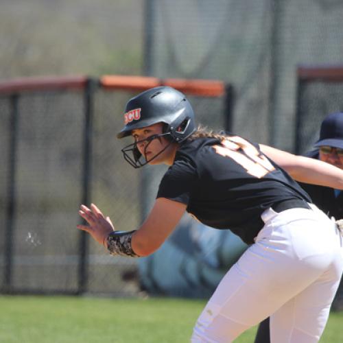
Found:
[{"label": "player's face behind the black helmet face guard", "polygon": [[137,148],[139,152],[145,157],[145,160],[149,161],[163,149],[165,149],[161,154],[158,154],[152,161],[149,162],[150,165],[157,165],[165,163],[171,165],[174,161],[175,156],[175,144],[167,141],[165,137],[156,137],[149,140],[149,137],[155,134],[163,133],[163,123],[156,123],[151,126],[146,126],[145,128],[140,128],[132,130],[131,134],[135,141],[137,141]]}]

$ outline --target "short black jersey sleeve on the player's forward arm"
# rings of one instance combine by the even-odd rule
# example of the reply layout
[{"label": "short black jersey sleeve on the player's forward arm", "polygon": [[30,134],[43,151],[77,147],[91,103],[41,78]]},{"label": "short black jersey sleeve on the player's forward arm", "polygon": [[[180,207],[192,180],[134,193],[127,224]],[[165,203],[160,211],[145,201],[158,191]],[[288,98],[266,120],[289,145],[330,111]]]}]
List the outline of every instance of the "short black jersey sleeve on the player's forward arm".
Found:
[{"label": "short black jersey sleeve on the player's forward arm", "polygon": [[156,198],[167,198],[188,204],[197,181],[198,175],[194,165],[188,161],[176,161],[163,176]]}]

